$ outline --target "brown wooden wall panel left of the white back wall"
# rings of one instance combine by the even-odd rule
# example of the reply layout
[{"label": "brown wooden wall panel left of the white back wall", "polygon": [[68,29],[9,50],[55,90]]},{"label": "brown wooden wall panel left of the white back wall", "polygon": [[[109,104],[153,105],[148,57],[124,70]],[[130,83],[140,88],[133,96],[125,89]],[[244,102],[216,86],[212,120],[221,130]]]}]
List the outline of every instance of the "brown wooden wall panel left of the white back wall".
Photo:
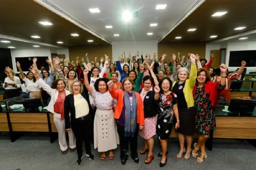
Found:
[{"label": "brown wooden wall panel left of the white back wall", "polygon": [[[71,46],[69,47],[69,60],[74,62],[76,57],[85,58],[85,54],[88,53],[90,61],[94,60],[97,57],[97,60],[100,60],[100,57],[104,57],[104,54],[108,55],[109,58],[112,57],[112,46]],[[85,60],[85,59],[84,59]]]}]

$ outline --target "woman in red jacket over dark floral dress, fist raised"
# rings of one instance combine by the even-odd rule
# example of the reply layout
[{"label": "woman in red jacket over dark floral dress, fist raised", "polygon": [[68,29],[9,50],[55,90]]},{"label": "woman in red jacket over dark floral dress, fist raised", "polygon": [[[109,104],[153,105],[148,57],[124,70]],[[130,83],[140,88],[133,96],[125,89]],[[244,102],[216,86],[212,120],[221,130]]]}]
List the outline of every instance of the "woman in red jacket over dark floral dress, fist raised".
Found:
[{"label": "woman in red jacket over dark floral dress, fist raised", "polygon": [[193,89],[193,96],[196,106],[196,133],[198,134],[197,143],[194,144],[195,149],[192,152],[193,157],[198,155],[201,150],[197,162],[203,162],[207,158],[205,152],[205,141],[210,137],[211,130],[216,129],[214,106],[220,98],[220,91],[224,89],[227,78],[227,66],[220,65],[221,81],[213,83],[207,69],[199,69],[197,72],[196,85]]}]

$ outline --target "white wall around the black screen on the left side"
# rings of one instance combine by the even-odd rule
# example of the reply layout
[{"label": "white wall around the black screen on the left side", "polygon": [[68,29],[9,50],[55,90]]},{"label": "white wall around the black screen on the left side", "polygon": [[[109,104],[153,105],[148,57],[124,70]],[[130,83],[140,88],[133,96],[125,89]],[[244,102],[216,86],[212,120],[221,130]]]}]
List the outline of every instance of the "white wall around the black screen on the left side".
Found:
[{"label": "white wall around the black screen on the left side", "polygon": [[65,57],[69,59],[68,49],[54,49],[54,50],[50,48],[12,49],[11,55],[12,55],[13,71],[15,71],[15,73],[19,72],[17,71],[17,67],[15,67],[16,66],[15,58],[17,57],[51,57],[51,53],[65,54]]}]

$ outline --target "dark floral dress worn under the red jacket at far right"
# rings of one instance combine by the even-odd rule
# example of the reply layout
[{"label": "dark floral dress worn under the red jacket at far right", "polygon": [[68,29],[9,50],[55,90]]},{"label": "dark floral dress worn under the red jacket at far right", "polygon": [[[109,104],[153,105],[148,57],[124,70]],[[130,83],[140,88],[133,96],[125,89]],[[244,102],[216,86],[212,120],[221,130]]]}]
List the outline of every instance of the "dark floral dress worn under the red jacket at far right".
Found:
[{"label": "dark floral dress worn under the red jacket at far right", "polygon": [[204,87],[196,88],[194,95],[196,106],[196,133],[208,135],[216,129],[214,110],[209,100],[209,94]]}]

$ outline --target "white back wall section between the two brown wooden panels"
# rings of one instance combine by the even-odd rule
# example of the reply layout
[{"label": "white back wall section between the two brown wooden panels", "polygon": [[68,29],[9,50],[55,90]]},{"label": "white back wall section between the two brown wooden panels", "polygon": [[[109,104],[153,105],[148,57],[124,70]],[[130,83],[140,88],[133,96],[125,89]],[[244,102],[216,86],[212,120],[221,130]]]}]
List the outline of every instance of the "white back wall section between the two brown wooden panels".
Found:
[{"label": "white back wall section between the two brown wooden panels", "polygon": [[129,57],[129,52],[132,56],[137,52],[143,52],[145,56],[146,52],[150,53],[151,59],[153,53],[157,52],[157,40],[156,41],[114,41],[112,42],[112,56],[113,60],[117,60],[118,56],[121,56],[125,52],[125,56]]}]

